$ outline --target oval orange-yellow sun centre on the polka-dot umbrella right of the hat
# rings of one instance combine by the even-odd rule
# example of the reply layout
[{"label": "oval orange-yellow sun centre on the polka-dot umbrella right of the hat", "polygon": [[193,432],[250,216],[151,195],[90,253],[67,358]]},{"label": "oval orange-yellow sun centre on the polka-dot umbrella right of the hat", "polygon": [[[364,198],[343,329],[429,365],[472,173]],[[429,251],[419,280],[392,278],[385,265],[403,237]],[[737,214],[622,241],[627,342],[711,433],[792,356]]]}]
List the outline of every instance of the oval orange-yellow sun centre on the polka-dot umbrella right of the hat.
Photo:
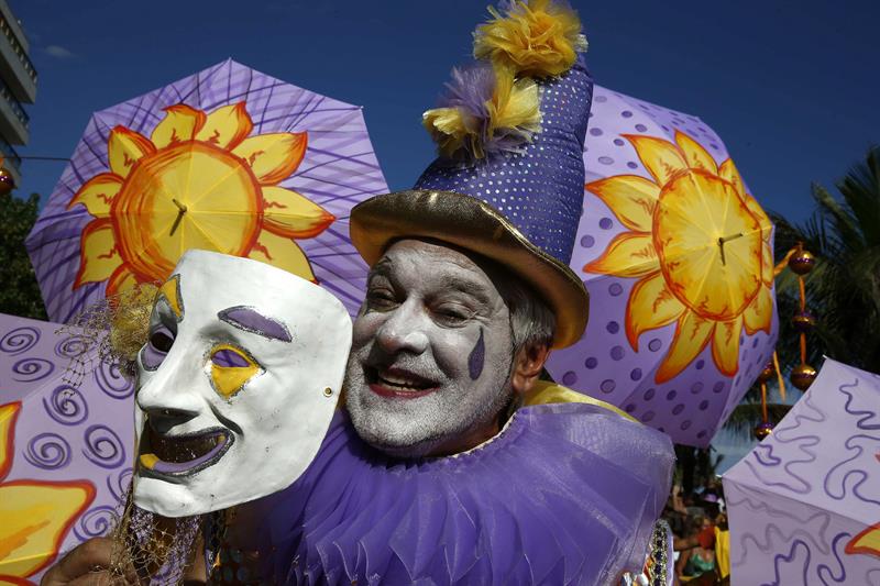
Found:
[{"label": "oval orange-yellow sun centre on the polka-dot umbrella right of the hat", "polygon": [[696,314],[727,321],[758,295],[760,224],[732,184],[693,169],[672,178],[660,194],[652,235],[669,289]]}]

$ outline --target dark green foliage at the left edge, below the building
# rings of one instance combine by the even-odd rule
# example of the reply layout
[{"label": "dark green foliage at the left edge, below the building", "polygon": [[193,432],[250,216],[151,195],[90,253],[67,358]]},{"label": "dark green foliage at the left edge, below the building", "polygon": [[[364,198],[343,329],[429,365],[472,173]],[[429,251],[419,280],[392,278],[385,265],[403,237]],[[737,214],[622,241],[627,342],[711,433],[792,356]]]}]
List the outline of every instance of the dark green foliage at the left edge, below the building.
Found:
[{"label": "dark green foliage at the left edge, below the building", "polygon": [[36,194],[26,200],[0,196],[0,313],[45,320],[46,309],[24,248],[38,202]]}]

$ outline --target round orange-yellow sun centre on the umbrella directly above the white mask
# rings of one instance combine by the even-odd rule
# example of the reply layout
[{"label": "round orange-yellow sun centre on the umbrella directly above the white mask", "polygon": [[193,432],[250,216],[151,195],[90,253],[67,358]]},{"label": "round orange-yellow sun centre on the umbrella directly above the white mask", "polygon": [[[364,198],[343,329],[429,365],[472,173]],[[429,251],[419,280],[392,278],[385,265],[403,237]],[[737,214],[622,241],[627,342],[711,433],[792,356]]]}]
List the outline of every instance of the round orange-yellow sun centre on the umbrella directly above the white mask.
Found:
[{"label": "round orange-yellow sun centre on the umbrella directly above the white mask", "polygon": [[261,186],[249,165],[223,148],[187,141],[142,158],[110,215],[125,262],[142,278],[160,280],[189,248],[246,254],[262,212]]}]

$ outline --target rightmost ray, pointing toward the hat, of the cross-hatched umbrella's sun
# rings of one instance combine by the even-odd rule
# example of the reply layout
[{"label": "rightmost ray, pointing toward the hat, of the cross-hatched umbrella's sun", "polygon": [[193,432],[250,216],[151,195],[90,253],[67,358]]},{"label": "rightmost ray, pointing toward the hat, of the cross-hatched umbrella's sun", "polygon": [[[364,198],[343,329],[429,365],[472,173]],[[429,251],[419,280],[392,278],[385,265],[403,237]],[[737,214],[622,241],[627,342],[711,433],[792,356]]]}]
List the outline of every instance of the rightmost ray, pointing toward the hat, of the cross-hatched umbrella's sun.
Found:
[{"label": "rightmost ray, pointing toward the hat, of the cross-hatched umbrella's sun", "polygon": [[283,187],[264,187],[263,225],[279,236],[310,239],[336,217],[305,196]]}]

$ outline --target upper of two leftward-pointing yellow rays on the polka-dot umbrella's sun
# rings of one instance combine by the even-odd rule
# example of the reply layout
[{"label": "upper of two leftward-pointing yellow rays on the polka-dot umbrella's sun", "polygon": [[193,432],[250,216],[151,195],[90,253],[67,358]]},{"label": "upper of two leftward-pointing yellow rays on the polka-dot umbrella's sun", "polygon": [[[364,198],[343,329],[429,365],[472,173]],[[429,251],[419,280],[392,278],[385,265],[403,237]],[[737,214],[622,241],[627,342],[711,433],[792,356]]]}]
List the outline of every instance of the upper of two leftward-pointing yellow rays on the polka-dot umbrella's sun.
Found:
[{"label": "upper of two leftward-pointing yellow rays on the polka-dot umbrella's sun", "polygon": [[637,175],[616,175],[586,184],[587,191],[598,197],[620,223],[636,232],[650,232],[660,187]]}]

